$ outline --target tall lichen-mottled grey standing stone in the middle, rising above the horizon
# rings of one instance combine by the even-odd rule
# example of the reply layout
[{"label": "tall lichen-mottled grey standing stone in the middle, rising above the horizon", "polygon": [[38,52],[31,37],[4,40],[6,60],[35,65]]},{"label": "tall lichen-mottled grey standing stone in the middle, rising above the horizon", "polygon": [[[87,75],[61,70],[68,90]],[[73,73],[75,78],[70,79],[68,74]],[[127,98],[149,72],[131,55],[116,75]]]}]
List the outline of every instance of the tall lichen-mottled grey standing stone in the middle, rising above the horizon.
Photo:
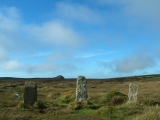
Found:
[{"label": "tall lichen-mottled grey standing stone in the middle, rising above the horizon", "polygon": [[84,76],[78,76],[76,88],[76,101],[85,101],[87,97],[87,80]]}]

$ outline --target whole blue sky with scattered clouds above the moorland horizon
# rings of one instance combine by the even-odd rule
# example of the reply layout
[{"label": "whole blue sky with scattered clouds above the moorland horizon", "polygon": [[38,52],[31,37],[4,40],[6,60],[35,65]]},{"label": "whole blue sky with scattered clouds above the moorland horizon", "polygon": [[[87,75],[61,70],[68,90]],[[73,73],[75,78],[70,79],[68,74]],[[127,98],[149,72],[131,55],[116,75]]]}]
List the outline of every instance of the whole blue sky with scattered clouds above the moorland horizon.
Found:
[{"label": "whole blue sky with scattered clouds above the moorland horizon", "polygon": [[160,73],[159,0],[0,0],[0,76]]}]

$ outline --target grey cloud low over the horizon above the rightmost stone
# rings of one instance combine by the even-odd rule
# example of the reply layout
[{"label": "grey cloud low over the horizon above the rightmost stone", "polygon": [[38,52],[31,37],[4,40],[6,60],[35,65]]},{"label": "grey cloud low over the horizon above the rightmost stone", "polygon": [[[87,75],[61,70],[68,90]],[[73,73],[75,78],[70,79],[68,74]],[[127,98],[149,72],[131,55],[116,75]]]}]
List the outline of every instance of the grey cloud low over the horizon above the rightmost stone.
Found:
[{"label": "grey cloud low over the horizon above the rightmost stone", "polygon": [[119,75],[136,74],[138,72],[143,74],[143,71],[151,71],[151,69],[153,71],[157,68],[159,61],[158,54],[150,47],[140,47],[132,53],[126,52],[126,50],[121,52],[124,55],[120,54],[119,56],[118,53],[116,55],[117,58],[106,59],[98,64]]}]

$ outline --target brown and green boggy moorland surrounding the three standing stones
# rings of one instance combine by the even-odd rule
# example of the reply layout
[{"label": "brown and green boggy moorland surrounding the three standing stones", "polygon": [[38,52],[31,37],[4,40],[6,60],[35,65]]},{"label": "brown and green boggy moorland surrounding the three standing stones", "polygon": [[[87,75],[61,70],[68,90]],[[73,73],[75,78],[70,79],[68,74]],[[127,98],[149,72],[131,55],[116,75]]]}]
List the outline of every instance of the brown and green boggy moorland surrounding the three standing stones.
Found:
[{"label": "brown and green boggy moorland surrounding the three standing stones", "polygon": [[[39,106],[23,107],[25,81],[36,81]],[[160,119],[160,78],[126,77],[88,79],[88,100],[75,103],[76,79],[14,79],[0,81],[0,120],[158,120]],[[107,100],[117,91],[128,94],[129,83],[138,84],[136,104]],[[15,94],[19,94],[20,98]],[[115,97],[119,100],[119,96]],[[121,104],[122,103],[122,104]]]}]

